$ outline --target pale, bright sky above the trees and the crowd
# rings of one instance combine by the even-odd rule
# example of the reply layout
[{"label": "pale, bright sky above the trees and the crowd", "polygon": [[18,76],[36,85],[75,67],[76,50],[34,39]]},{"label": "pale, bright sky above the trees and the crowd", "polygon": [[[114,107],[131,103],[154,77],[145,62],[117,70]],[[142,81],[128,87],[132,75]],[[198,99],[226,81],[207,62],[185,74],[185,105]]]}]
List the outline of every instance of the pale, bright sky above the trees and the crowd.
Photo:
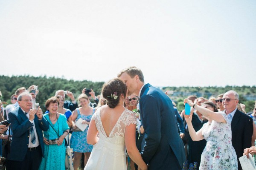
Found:
[{"label": "pale, bright sky above the trees and the crowd", "polygon": [[0,0],[0,75],[256,85],[255,0]]}]

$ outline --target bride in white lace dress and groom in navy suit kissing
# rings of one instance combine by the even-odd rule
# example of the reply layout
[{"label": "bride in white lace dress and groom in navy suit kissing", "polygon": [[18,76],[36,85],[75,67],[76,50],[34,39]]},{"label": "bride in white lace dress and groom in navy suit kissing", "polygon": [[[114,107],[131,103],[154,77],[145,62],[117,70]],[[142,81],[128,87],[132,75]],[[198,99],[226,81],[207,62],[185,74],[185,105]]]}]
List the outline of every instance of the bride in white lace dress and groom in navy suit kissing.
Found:
[{"label": "bride in white lace dress and groom in navy suit kissing", "polygon": [[[137,67],[125,68],[118,77],[102,87],[108,102],[91,119],[87,143],[94,146],[84,170],[126,170],[125,150],[139,170],[181,170],[185,150],[172,101],[160,89],[144,84]],[[135,144],[136,116],[123,106],[131,94],[140,100],[140,118],[147,134],[141,153]]]}]

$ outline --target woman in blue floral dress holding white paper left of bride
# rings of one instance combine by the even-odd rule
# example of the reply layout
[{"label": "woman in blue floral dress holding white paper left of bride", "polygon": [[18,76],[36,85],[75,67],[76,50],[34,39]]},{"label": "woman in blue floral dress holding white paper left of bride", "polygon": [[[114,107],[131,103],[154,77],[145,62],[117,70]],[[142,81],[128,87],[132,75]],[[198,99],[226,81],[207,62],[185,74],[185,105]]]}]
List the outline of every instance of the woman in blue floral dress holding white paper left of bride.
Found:
[{"label": "woman in blue floral dress holding white paper left of bride", "polygon": [[74,151],[74,170],[77,170],[79,167],[82,153],[84,153],[84,166],[87,164],[93,149],[93,145],[87,144],[86,142],[88,127],[82,132],[76,127],[74,122],[81,118],[83,124],[90,125],[90,120],[96,110],[89,106],[90,100],[86,94],[80,94],[78,101],[81,107],[77,108],[72,114],[73,133],[70,139],[71,148],[73,148]]}]

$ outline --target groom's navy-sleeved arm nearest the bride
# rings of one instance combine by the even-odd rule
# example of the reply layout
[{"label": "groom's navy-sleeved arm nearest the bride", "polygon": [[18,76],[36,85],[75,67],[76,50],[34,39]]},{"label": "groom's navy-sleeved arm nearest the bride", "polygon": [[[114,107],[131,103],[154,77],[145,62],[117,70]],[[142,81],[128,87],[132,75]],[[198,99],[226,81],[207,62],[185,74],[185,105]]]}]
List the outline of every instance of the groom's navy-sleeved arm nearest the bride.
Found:
[{"label": "groom's navy-sleeved arm nearest the bride", "polygon": [[157,99],[151,95],[145,95],[140,99],[140,109],[143,111],[143,128],[147,134],[141,156],[146,164],[154,156],[161,140],[160,107],[157,103]]}]

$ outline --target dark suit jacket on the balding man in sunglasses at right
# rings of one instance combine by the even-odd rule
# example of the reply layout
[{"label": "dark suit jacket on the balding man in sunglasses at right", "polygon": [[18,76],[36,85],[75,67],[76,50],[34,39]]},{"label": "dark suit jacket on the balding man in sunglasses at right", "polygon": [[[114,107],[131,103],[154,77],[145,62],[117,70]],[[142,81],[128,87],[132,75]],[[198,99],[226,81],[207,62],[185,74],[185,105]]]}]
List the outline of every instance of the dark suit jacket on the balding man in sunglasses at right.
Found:
[{"label": "dark suit jacket on the balding man in sunglasses at right", "polygon": [[231,130],[232,145],[236,150],[238,169],[241,170],[241,164],[238,158],[243,156],[245,148],[251,147],[252,145],[253,119],[237,109],[231,122]]}]

